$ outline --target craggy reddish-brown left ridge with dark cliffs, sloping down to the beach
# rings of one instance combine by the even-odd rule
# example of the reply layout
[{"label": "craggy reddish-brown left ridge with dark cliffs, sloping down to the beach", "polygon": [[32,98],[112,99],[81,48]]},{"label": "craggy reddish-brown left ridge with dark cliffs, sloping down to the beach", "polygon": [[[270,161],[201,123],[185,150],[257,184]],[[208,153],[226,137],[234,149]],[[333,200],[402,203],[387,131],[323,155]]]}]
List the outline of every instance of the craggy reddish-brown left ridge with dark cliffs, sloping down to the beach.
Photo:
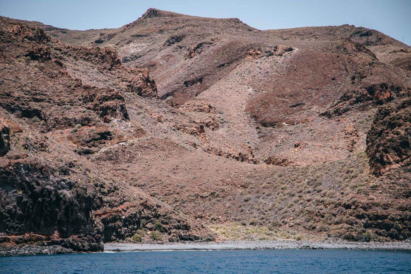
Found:
[{"label": "craggy reddish-brown left ridge with dark cliffs, sloping down to the beach", "polygon": [[[85,158],[144,135],[129,122],[122,90],[155,97],[146,69],[123,67],[110,48],[62,44],[7,18],[1,18],[0,29],[3,251],[27,244],[102,251],[103,242],[130,238],[139,229],[147,231],[143,240],[151,240],[155,223],[164,234],[157,240],[209,237],[198,223],[101,175]],[[93,77],[79,62],[95,69]],[[102,78],[104,84],[93,85]]]}]

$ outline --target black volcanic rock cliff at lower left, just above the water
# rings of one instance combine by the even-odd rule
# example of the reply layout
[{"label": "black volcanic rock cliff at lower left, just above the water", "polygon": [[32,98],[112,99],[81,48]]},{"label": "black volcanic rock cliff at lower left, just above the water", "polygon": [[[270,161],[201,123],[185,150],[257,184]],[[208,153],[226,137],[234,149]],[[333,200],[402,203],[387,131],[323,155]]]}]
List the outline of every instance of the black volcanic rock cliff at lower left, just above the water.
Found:
[{"label": "black volcanic rock cliff at lower left, just above the water", "polygon": [[0,167],[0,186],[0,233],[48,235],[44,240],[76,251],[102,250],[91,214],[94,197],[76,182],[55,177],[46,166],[17,161]]}]

